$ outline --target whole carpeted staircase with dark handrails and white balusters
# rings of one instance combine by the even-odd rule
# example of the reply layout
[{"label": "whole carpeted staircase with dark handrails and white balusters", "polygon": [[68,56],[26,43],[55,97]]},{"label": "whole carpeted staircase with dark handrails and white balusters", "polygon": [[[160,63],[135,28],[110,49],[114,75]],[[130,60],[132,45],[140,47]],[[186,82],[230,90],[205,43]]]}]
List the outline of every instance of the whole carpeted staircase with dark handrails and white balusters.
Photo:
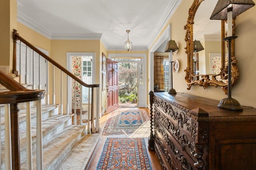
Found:
[{"label": "whole carpeted staircase with dark handrails and white balusters", "polygon": [[[29,47],[32,54],[31,60],[28,60],[29,53],[25,53],[25,64],[22,65],[23,55],[20,53],[19,71],[16,69],[17,41],[20,41],[20,45],[21,42],[25,44],[26,51]],[[0,70],[1,169],[87,169],[100,141],[100,135],[96,133],[99,132],[100,84],[86,84],[22,38],[16,30],[13,31],[13,43],[12,74],[7,72],[8,76]],[[38,63],[35,62],[35,55],[38,56]],[[41,57],[46,61],[47,73],[41,72]],[[32,66],[28,63],[32,63]],[[51,72],[49,64],[52,65]],[[26,67],[24,78],[21,74],[23,66]],[[46,76],[45,90],[42,90],[42,74]],[[59,77],[60,81],[55,77]],[[52,80],[51,84],[49,79]],[[70,88],[62,86],[72,81],[76,90],[80,86],[79,99],[76,90],[71,93]],[[88,88],[88,123],[82,123],[81,114],[80,125],[76,125],[76,101],[82,101],[82,86]],[[57,93],[55,88],[58,90]],[[59,105],[56,105],[56,94],[59,97]],[[74,104],[70,100],[70,95],[73,95]],[[75,110],[74,114],[71,111],[72,107]],[[80,108],[83,108],[82,102]]]}]

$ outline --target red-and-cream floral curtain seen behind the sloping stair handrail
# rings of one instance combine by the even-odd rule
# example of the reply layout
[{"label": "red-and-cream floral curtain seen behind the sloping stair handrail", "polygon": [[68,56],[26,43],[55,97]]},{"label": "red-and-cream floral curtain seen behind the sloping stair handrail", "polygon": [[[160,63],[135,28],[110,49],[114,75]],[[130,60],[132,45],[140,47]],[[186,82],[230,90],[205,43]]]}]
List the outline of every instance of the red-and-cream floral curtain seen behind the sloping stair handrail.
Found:
[{"label": "red-and-cream floral curtain seen behind the sloping stair handrail", "polygon": [[[79,79],[82,78],[82,57],[81,56],[72,56],[72,73],[77,76]],[[72,80],[72,107],[75,105],[80,106],[81,102],[81,84]],[[76,97],[74,96],[76,91]]]}]

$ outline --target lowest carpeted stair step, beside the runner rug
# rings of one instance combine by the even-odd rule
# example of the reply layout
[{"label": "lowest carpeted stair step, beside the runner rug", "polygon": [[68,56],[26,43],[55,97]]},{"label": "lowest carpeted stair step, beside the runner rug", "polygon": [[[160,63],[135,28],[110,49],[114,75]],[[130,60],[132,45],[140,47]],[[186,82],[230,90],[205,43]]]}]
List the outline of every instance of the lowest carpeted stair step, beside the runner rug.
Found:
[{"label": "lowest carpeted stair step, beside the runner rug", "polygon": [[84,135],[56,170],[84,170],[99,141],[98,133]]}]

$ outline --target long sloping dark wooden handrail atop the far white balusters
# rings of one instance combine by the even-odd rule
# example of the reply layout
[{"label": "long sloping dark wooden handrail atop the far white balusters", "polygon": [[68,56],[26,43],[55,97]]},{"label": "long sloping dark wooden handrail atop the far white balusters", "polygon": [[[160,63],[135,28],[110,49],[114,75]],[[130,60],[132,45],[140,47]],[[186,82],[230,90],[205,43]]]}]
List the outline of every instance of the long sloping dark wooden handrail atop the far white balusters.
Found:
[{"label": "long sloping dark wooden handrail atop the far white balusters", "polygon": [[[36,48],[34,45],[32,45],[31,43],[29,43],[28,41],[26,41],[24,38],[22,38],[18,33],[17,30],[14,29],[13,30],[13,42],[16,43],[17,40],[22,41],[24,44],[26,44],[28,47],[30,47],[32,50],[36,51],[36,53],[38,53],[40,56],[44,57],[47,61],[49,61],[50,63],[52,63],[54,66],[60,68],[60,70],[62,70],[63,72],[65,72],[66,74],[68,74],[68,76],[70,76],[71,78],[73,78],[74,80],[76,80],[78,83],[82,84],[82,86],[85,87],[90,87],[90,88],[94,88],[94,87],[100,87],[100,84],[86,84],[85,82],[83,82],[81,79],[79,79],[77,76],[75,76],[74,74],[72,74],[72,72],[68,71],[66,68],[64,68],[62,65],[60,65],[59,63],[57,63],[56,61],[54,61],[53,59],[51,59],[50,57],[48,57],[46,54],[44,54],[42,51],[40,51],[38,48]],[[16,55],[16,53],[15,53]],[[13,60],[14,62],[16,61]],[[16,63],[15,63],[16,65]],[[16,67],[15,67],[16,68]]]}]

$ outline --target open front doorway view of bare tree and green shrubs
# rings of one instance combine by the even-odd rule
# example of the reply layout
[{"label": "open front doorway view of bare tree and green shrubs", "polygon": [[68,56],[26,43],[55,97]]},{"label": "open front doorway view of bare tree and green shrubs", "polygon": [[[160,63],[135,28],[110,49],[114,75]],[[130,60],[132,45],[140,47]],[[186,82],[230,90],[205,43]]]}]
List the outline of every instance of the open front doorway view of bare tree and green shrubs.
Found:
[{"label": "open front doorway view of bare tree and green shrubs", "polygon": [[138,63],[118,63],[119,107],[138,107]]}]

